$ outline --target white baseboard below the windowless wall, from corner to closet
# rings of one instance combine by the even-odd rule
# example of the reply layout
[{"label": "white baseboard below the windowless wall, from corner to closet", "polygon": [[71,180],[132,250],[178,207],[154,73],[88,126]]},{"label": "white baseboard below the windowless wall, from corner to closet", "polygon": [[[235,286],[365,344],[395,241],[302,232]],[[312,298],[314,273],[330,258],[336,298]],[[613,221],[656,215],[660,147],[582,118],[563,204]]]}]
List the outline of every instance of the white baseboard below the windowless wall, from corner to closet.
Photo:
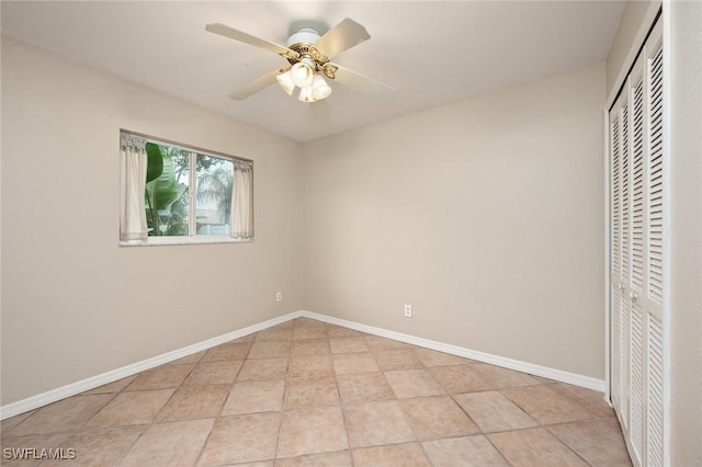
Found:
[{"label": "white baseboard below the windowless wall, from corner to closet", "polygon": [[388,331],[382,328],[360,324],[358,322],[347,321],[344,319],[333,318],[326,315],[319,315],[313,311],[302,310],[301,314],[301,316],[305,318],[316,319],[319,321],[328,322],[330,324],[341,326],[343,328],[353,329],[369,334],[380,335],[382,338],[393,339],[395,341],[406,342],[408,344],[419,345],[421,348],[450,353],[452,355],[457,355],[483,363],[489,363],[490,365],[501,366],[503,368],[514,369],[517,372],[529,373],[530,375],[542,376],[544,378],[554,379],[556,381],[567,383],[569,385],[581,386],[600,392],[604,391],[603,379],[591,378],[589,376],[582,376],[575,373],[564,372],[562,369],[535,365],[533,363],[522,362],[519,360],[506,358],[503,356],[478,352],[457,345],[451,345],[443,342],[431,341],[429,339],[417,338],[415,335],[403,334],[401,332]]}]

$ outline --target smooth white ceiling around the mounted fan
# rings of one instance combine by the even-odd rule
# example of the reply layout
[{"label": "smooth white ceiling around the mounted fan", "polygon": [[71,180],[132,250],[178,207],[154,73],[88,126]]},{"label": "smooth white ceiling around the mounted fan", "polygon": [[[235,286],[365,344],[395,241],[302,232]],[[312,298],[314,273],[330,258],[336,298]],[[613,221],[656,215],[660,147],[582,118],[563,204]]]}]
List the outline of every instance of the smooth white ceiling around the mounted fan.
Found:
[{"label": "smooth white ceiling around the mounted fan", "polygon": [[[620,1],[2,1],[2,35],[308,141],[607,58]],[[205,31],[224,23],[285,45],[304,21],[344,18],[371,39],[333,61],[399,91],[375,102],[338,83],[326,114],[272,86],[227,95],[285,65]],[[326,31],[319,31],[324,34]]]}]

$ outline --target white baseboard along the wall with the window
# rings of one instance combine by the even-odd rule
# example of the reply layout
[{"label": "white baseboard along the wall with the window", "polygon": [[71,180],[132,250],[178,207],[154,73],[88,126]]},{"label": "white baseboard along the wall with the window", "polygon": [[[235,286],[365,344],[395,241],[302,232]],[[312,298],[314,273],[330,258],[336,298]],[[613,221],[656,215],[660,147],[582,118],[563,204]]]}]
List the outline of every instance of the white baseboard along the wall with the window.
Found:
[{"label": "white baseboard along the wall with the window", "polygon": [[121,368],[116,368],[111,372],[103,373],[101,375],[81,379],[79,381],[71,383],[69,385],[48,390],[46,392],[42,392],[36,396],[27,397],[26,399],[22,399],[16,402],[1,406],[0,420],[4,420],[10,417],[14,417],[20,413],[27,412],[30,410],[44,407],[48,403],[56,402],[57,400],[65,399],[70,396],[76,396],[77,394],[80,394],[90,389],[94,389],[97,387],[106,385],[109,383],[114,383],[118,379],[126,378],[127,376],[136,375],[137,373],[144,372],[145,369],[150,369],[156,366],[162,365],[165,363],[170,363],[174,360],[182,358],[184,356],[192,355],[194,353],[214,348],[215,345],[219,345],[225,342],[233,341],[235,339],[244,338],[245,335],[252,334],[253,332],[262,331],[263,329],[268,329],[270,327],[290,321],[291,319],[298,318],[302,315],[303,315],[302,311],[294,311],[287,315],[283,315],[278,318],[259,322],[258,324],[249,326],[247,328],[239,329],[237,331],[222,334],[216,338],[207,339],[206,341],[188,345],[185,348],[178,349],[172,352],[167,352],[151,358],[143,360],[140,362],[133,363],[131,365],[123,366]]}]

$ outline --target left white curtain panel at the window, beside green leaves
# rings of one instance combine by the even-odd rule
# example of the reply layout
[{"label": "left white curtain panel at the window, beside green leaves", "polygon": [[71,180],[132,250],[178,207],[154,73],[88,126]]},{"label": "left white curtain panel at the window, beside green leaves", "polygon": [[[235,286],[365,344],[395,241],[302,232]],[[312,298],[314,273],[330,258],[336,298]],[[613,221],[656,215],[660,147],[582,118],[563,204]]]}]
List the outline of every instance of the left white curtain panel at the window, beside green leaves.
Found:
[{"label": "left white curtain panel at the window, beside green leaves", "polygon": [[120,240],[145,239],[148,235],[144,193],[146,190],[146,139],[122,133]]}]

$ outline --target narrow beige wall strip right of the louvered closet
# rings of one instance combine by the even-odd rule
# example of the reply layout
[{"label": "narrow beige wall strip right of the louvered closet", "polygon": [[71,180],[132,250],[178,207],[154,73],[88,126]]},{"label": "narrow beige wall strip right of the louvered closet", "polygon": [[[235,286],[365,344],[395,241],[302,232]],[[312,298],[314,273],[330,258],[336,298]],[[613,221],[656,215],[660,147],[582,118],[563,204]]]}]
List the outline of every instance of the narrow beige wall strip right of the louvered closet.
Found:
[{"label": "narrow beige wall strip right of the louvered closet", "polygon": [[702,466],[702,2],[672,1],[670,465]]}]

